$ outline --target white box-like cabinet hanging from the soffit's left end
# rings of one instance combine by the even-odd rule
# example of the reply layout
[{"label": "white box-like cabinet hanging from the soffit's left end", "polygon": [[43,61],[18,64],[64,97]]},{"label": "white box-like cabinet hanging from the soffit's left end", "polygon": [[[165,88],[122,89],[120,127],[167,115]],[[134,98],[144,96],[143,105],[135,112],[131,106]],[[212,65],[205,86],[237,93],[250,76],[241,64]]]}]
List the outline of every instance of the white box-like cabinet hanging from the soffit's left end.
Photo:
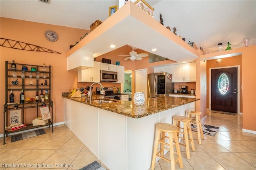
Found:
[{"label": "white box-like cabinet hanging from the soffit's left end", "polygon": [[93,53],[83,48],[67,57],[68,71],[79,71],[90,67],[93,67]]}]

